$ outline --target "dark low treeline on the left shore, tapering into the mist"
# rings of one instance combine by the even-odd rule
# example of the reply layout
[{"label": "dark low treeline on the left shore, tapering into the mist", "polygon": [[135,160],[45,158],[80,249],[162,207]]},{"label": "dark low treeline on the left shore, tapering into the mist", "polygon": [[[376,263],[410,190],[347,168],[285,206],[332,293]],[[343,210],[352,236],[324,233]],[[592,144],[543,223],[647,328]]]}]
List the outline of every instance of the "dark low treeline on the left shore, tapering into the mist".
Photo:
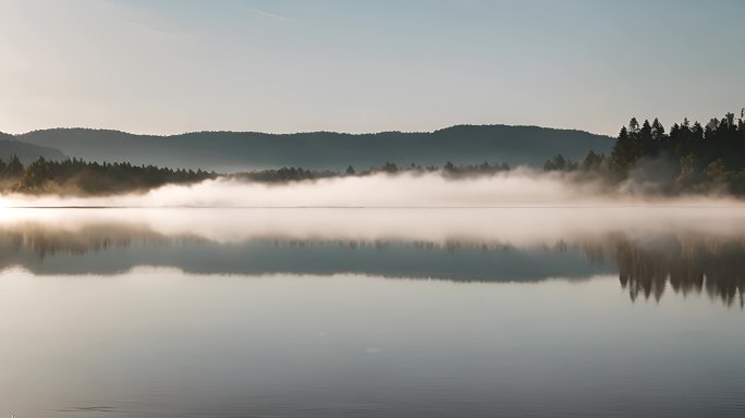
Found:
[{"label": "dark low treeline on the left shore, tapering into the mist", "polygon": [[86,162],[80,159],[49,161],[44,158],[27,167],[17,157],[0,160],[0,187],[4,192],[29,194],[117,194],[142,192],[169,183],[195,183],[215,179],[203,170],[173,170],[129,162]]}]

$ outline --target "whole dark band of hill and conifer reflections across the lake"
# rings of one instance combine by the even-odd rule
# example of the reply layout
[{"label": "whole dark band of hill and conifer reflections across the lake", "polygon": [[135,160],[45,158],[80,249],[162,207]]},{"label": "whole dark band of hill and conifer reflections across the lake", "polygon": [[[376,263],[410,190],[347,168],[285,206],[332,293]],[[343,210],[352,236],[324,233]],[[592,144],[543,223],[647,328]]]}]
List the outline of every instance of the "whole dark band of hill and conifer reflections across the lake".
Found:
[{"label": "whole dark band of hill and conifer reflections across the lake", "polygon": [[[447,255],[447,256],[445,256]],[[96,224],[74,230],[44,224],[0,230],[0,268],[35,273],[113,274],[136,266],[170,266],[198,274],[362,273],[453,281],[583,279],[618,268],[633,300],[659,300],[668,287],[683,295],[706,291],[726,305],[745,305],[745,237],[626,234],[546,243],[516,249],[452,239],[313,241],[261,237],[219,244],[166,235],[145,225]]]}]

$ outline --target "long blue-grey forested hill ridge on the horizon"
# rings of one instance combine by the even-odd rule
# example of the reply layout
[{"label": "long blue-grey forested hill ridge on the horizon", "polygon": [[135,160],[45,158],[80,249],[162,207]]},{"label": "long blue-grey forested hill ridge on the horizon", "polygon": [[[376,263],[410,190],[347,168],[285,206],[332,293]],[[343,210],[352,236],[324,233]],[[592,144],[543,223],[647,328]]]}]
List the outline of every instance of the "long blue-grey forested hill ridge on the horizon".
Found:
[{"label": "long blue-grey forested hill ridge on the horizon", "polygon": [[86,160],[222,172],[284,165],[341,170],[352,164],[365,169],[386,161],[399,165],[442,165],[447,161],[541,165],[558,153],[578,160],[590,149],[608,153],[613,145],[607,136],[583,131],[508,125],[457,125],[431,133],[198,132],[170,136],[57,128],[15,138]]}]

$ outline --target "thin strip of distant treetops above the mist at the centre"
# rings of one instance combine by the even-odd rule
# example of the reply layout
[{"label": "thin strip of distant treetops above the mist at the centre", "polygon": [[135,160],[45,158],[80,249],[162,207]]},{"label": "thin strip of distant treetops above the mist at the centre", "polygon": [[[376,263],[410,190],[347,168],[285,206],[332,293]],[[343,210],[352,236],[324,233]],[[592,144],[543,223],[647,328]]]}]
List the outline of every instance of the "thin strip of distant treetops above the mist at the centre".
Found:
[{"label": "thin strip of distant treetops above the mist at the centre", "polygon": [[489,163],[483,162],[480,164],[471,165],[455,165],[448,161],[442,168],[438,165],[427,165],[422,167],[412,163],[411,165],[399,167],[393,162],[386,162],[380,167],[369,168],[363,171],[355,170],[354,167],[349,165],[345,171],[313,171],[302,168],[294,167],[283,167],[278,170],[257,170],[231,174],[231,177],[239,180],[247,180],[252,182],[262,182],[262,183],[286,183],[286,182],[297,182],[304,180],[319,180],[319,179],[330,179],[330,177],[344,177],[344,176],[365,176],[379,173],[386,174],[398,174],[398,173],[412,173],[422,174],[428,172],[442,172],[444,176],[448,177],[465,177],[473,175],[489,175],[496,174],[502,171],[509,171],[510,165],[505,162],[502,163]]}]

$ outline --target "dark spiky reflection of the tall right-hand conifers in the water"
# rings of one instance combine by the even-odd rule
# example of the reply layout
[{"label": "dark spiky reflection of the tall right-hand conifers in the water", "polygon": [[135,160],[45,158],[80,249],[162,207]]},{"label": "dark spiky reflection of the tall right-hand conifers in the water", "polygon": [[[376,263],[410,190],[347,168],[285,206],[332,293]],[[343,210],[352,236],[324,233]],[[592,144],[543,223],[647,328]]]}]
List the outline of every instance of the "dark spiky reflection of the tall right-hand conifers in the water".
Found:
[{"label": "dark spiky reflection of the tall right-hand conifers in the water", "polygon": [[632,300],[640,294],[659,300],[669,285],[686,295],[706,290],[732,305],[745,305],[745,241],[668,237],[657,241],[610,238],[607,250],[619,267],[621,285]]}]

